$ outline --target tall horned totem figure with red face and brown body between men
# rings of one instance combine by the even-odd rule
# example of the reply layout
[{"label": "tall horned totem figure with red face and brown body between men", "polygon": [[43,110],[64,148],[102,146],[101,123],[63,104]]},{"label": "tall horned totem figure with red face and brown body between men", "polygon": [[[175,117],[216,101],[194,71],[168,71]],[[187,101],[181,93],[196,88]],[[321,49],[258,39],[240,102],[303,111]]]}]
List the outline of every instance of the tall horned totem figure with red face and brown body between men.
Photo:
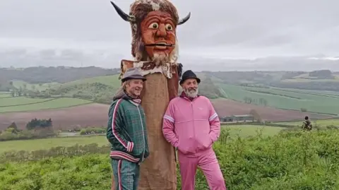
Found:
[{"label": "tall horned totem figure with red face and brown body between men", "polygon": [[175,190],[175,150],[162,135],[162,117],[169,100],[177,97],[182,73],[182,64],[177,63],[176,28],[189,20],[191,13],[179,19],[177,8],[168,0],[136,0],[129,14],[111,3],[119,16],[131,24],[133,37],[134,60],[121,60],[121,76],[126,69],[135,67],[147,78],[141,105],[145,109],[150,156],[141,163],[138,189]]}]

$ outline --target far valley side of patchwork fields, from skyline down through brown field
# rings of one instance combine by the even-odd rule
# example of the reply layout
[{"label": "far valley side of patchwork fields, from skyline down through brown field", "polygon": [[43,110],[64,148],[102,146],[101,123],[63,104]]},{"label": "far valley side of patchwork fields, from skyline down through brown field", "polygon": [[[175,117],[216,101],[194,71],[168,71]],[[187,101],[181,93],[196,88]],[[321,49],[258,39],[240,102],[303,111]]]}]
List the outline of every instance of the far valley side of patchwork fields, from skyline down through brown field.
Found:
[{"label": "far valley side of patchwork fields, from skyline down through brown field", "polygon": [[[23,76],[18,76],[18,73],[11,77],[8,77],[8,74],[1,76],[2,86],[6,88],[0,93],[0,130],[13,121],[23,128],[35,117],[52,118],[56,129],[105,126],[108,106],[121,85],[117,74],[119,69],[37,67],[1,69],[1,71],[25,72]],[[42,71],[45,73],[42,74]],[[54,71],[57,74],[52,74]],[[36,75],[39,72],[40,74]],[[47,76],[47,73],[50,76]],[[312,119],[322,119],[339,114],[339,91],[333,91],[339,86],[338,81],[335,81],[338,80],[338,73],[331,71],[196,73],[201,78],[199,93],[210,98],[220,117],[249,114],[252,109],[266,121],[299,120],[305,115]],[[287,88],[277,87],[278,83],[287,84]],[[307,85],[311,88],[309,90],[299,88],[301,83],[304,84],[304,88]],[[319,83],[319,86],[312,83]],[[296,84],[295,88],[289,88],[292,84]],[[317,90],[317,87],[327,90]]]}]

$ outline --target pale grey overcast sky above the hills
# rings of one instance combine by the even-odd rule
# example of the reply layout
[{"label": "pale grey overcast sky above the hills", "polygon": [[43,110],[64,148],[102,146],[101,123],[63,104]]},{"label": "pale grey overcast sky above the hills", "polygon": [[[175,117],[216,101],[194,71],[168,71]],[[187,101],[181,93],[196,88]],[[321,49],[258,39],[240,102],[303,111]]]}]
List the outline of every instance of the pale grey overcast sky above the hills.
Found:
[{"label": "pale grey overcast sky above the hills", "polygon": [[[133,0],[115,2],[129,12]],[[338,0],[172,2],[181,17],[191,11],[177,29],[184,59],[339,56]],[[131,57],[130,44],[129,23],[109,0],[0,0],[0,67],[62,60],[117,67],[117,57]]]}]

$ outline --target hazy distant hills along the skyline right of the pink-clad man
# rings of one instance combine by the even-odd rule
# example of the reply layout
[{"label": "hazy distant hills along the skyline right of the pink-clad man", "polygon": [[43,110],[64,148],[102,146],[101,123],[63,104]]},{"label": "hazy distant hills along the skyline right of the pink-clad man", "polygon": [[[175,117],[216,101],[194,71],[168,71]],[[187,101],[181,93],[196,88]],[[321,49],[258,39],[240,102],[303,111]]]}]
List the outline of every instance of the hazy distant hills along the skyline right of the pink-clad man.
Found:
[{"label": "hazy distant hills along the skyline right of the pink-clad man", "polygon": [[[304,90],[331,90],[339,92],[339,74],[329,70],[304,71],[203,71],[218,78],[215,82],[232,85],[254,85]],[[222,81],[220,81],[220,79]]]}]

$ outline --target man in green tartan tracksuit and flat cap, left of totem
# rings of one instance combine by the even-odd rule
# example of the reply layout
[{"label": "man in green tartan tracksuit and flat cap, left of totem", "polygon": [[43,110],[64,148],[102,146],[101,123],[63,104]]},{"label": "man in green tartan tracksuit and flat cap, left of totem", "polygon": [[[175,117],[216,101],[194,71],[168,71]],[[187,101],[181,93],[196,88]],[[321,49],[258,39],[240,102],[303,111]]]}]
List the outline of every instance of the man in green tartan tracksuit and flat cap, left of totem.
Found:
[{"label": "man in green tartan tracksuit and flat cap, left of totem", "polygon": [[139,164],[148,157],[145,114],[139,96],[143,81],[137,69],[129,69],[121,79],[121,89],[109,108],[107,139],[116,190],[137,190]]}]

